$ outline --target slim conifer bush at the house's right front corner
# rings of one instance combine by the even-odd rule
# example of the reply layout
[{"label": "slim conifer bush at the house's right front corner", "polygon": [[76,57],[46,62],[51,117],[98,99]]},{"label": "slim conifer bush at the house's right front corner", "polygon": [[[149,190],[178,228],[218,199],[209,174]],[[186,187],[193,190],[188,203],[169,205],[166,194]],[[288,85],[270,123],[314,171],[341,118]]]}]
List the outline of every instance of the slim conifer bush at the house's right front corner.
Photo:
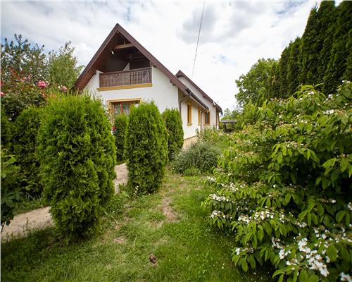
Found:
[{"label": "slim conifer bush at the house's right front corner", "polygon": [[175,159],[183,146],[183,128],[180,111],[165,109],[163,119],[168,130],[168,158]]}]

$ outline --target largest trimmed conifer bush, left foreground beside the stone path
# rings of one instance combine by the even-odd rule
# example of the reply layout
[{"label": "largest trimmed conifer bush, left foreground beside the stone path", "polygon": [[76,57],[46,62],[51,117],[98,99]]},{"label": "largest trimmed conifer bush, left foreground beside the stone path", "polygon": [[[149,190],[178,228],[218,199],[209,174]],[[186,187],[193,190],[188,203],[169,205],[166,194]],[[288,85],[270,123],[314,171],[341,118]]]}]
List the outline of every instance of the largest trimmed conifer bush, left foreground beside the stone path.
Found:
[{"label": "largest trimmed conifer bush, left foreground beside the stone path", "polygon": [[39,128],[44,196],[61,235],[86,237],[114,194],[115,145],[101,102],[88,96],[52,100]]}]

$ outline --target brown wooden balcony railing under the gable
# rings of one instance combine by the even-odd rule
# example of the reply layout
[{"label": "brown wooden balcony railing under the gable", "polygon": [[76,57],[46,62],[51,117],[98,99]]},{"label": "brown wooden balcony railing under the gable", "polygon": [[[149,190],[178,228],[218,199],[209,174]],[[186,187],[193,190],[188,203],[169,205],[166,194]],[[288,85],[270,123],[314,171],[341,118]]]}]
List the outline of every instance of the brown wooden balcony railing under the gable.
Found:
[{"label": "brown wooden balcony railing under the gable", "polygon": [[133,85],[151,82],[151,68],[137,68],[131,71],[113,71],[100,73],[100,87]]}]

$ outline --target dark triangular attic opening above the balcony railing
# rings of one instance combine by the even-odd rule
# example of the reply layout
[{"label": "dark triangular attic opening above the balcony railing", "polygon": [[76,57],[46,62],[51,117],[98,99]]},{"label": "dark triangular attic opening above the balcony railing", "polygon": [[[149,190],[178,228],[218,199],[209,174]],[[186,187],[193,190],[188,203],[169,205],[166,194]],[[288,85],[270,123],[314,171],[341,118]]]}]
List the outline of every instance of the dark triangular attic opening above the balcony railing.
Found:
[{"label": "dark triangular attic opening above the balcony railing", "polygon": [[115,71],[132,71],[138,68],[148,68],[151,63],[134,45],[120,33],[102,51],[94,68],[103,73]]}]

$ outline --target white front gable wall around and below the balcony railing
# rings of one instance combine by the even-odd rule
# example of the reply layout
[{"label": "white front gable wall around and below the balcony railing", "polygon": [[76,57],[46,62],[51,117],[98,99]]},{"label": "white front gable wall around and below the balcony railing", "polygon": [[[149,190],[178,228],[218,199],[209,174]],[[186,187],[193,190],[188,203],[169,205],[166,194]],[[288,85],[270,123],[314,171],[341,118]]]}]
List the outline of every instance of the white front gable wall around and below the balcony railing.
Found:
[{"label": "white front gable wall around and below the balcony railing", "polygon": [[[113,99],[142,99],[144,102],[155,102],[159,111],[165,109],[179,108],[178,88],[170,83],[170,80],[156,67],[152,67],[152,86],[142,88],[120,89],[99,91],[99,96],[106,105],[106,102]],[[99,72],[89,80],[85,87],[94,93],[99,87]]]}]

